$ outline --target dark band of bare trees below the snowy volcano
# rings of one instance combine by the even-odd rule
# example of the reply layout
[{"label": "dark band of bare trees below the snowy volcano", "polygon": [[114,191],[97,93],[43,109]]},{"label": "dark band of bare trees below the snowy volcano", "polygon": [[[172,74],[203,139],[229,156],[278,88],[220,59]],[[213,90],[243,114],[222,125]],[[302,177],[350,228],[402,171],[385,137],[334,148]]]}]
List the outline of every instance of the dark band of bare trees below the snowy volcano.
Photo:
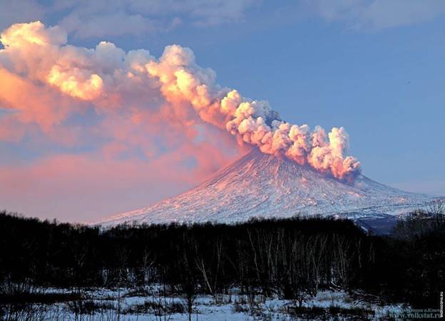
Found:
[{"label": "dark band of bare trees below the snowy volcano", "polygon": [[198,293],[279,295],[301,305],[326,288],[437,307],[445,288],[443,213],[414,213],[392,236],[349,220],[121,225],[100,230],[0,213],[0,297],[29,287],[165,285]]}]

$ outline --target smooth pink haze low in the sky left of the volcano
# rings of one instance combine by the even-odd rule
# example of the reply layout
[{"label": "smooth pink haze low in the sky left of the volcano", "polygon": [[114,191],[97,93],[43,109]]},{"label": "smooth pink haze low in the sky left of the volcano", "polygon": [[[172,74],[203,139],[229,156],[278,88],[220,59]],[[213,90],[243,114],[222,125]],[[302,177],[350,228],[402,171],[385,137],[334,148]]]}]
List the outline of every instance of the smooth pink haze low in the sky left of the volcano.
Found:
[{"label": "smooth pink haze low in the sky left of the volcano", "polygon": [[27,215],[88,221],[143,206],[195,184],[185,165],[98,154],[57,155],[0,166],[1,206]]}]

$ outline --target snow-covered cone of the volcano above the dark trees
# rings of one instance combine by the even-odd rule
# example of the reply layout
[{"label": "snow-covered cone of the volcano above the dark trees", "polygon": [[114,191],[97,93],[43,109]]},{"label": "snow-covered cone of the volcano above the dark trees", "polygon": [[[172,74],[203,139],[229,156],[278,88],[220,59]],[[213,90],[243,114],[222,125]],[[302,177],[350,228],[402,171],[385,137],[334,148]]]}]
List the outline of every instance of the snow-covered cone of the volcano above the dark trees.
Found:
[{"label": "snow-covered cone of the volcano above the dark trees", "polygon": [[169,223],[251,217],[340,215],[372,218],[415,210],[434,198],[408,193],[359,175],[348,184],[285,158],[253,150],[186,193],[98,223]]}]

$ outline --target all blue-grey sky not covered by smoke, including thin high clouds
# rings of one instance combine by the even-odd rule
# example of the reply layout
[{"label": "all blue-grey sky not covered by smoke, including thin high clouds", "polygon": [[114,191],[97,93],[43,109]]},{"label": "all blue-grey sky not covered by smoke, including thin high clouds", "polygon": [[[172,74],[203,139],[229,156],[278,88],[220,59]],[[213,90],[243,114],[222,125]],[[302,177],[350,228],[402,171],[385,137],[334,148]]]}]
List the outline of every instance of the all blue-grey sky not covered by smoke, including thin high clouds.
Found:
[{"label": "all blue-grey sky not covered by smoke, including thin high clouds", "polygon": [[[350,154],[369,178],[445,195],[444,1],[144,2],[0,0],[6,8],[0,27],[40,19],[63,26],[68,43],[76,46],[106,40],[127,51],[148,49],[156,57],[167,45],[188,46],[200,66],[213,68],[218,83],[269,101],[286,121],[344,126]],[[0,117],[5,114],[0,110]],[[71,121],[94,123],[95,117],[88,112]],[[0,142],[0,163],[41,157],[42,148],[32,144]],[[82,148],[88,150],[71,152]],[[48,147],[45,153],[62,149]],[[111,208],[148,205],[193,182],[174,184],[152,196],[128,191],[121,207],[93,205],[93,199],[103,202],[109,195],[85,202],[103,216]],[[20,203],[32,204],[32,195],[14,202],[3,200],[11,210],[29,212]],[[57,216],[60,208],[31,214],[73,220]]]}]

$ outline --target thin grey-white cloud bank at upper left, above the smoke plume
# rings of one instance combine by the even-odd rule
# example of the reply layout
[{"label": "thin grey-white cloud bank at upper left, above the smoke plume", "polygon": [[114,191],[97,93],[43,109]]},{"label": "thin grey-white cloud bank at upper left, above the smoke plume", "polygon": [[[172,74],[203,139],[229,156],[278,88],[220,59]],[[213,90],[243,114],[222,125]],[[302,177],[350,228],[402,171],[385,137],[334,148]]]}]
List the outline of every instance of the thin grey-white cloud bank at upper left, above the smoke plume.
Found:
[{"label": "thin grey-white cloud bank at upper left, above the smoke plume", "polygon": [[0,29],[17,22],[51,21],[81,39],[153,34],[180,24],[240,21],[254,0],[0,0]]}]

